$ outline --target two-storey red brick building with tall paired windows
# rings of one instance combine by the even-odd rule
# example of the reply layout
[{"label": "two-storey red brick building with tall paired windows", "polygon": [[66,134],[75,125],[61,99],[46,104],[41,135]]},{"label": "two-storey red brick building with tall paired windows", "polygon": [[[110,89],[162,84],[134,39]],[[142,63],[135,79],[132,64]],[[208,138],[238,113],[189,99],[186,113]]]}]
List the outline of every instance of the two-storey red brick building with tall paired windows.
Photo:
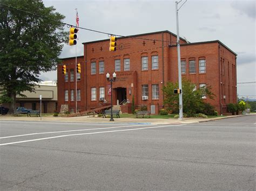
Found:
[{"label": "two-storey red brick building with tall paired windows", "polygon": [[[116,72],[113,82],[113,104],[123,100],[147,105],[152,114],[163,108],[161,90],[168,81],[178,81],[177,36],[170,31],[138,34],[117,39],[117,51],[109,51],[109,39],[83,43],[84,56],[78,56],[82,73],[77,77],[77,107],[84,111],[110,103],[106,73]],[[237,54],[219,40],[188,43],[180,38],[181,73],[196,88],[212,87],[214,105],[219,114],[228,103],[237,102]],[[75,108],[75,58],[64,58],[68,69],[62,74],[58,66],[58,110],[62,104]],[[100,98],[102,97],[102,98]]]}]

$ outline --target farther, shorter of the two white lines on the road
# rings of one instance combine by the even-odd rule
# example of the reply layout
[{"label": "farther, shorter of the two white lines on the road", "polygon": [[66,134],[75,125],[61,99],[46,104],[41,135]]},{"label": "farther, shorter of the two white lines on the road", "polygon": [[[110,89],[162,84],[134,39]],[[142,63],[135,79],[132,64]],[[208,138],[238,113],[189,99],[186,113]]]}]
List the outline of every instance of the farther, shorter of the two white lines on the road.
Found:
[{"label": "farther, shorter of the two white lines on the road", "polygon": [[[145,124],[145,125],[150,125],[150,124]],[[114,127],[111,127],[111,128],[79,129],[79,130],[69,130],[69,131],[50,131],[50,132],[42,132],[42,133],[30,133],[30,134],[23,134],[23,135],[0,137],[0,139],[11,138],[11,137],[30,136],[30,135],[40,135],[40,134],[48,134],[48,133],[64,133],[64,132],[89,131],[89,130],[99,130],[99,129],[128,128],[130,126],[145,126],[145,125],[140,124],[140,125],[114,126]]]}]

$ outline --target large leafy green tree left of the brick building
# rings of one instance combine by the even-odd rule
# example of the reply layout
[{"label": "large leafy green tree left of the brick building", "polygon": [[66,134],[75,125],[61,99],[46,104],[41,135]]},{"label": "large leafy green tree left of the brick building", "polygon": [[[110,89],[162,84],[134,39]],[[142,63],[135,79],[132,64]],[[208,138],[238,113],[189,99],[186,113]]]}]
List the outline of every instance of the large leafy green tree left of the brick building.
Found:
[{"label": "large leafy green tree left of the brick building", "polygon": [[59,23],[65,17],[41,0],[0,0],[0,10],[0,101],[9,102],[12,112],[16,95],[34,91],[39,74],[56,69],[68,32]]}]

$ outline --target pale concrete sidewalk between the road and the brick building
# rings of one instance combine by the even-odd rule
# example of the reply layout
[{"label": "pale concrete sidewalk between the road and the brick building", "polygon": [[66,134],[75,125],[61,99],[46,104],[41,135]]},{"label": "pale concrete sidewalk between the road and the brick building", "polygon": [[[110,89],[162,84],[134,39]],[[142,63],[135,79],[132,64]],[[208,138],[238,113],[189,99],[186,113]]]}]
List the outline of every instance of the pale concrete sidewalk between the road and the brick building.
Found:
[{"label": "pale concrete sidewalk between the road and the brick building", "polygon": [[[255,115],[255,114],[251,114]],[[179,119],[169,118],[169,119],[154,119],[154,118],[114,118],[111,122],[110,118],[102,117],[92,117],[92,116],[79,116],[79,117],[42,117],[42,122],[65,122],[65,123],[152,123],[152,124],[184,124],[184,123],[200,123],[207,121],[215,121],[218,119],[239,117],[238,116],[226,116],[226,117],[216,117],[216,118],[184,118],[183,121]],[[25,117],[25,116],[1,116],[0,121],[32,121],[40,122],[40,117]]]}]

